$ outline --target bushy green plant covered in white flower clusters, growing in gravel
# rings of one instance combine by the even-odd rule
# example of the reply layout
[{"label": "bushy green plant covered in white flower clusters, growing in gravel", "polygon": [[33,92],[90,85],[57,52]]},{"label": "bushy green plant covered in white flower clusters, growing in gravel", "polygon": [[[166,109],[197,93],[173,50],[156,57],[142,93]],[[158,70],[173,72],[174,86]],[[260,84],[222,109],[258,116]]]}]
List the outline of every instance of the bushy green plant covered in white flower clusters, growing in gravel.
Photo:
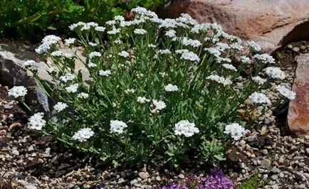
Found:
[{"label": "bushy green plant covered in white flower clusters, growing in gravel", "polygon": [[[33,72],[44,92],[51,92],[47,95],[55,111],[52,116],[34,114],[28,127],[115,166],[177,166],[191,158],[218,163],[224,147],[244,134],[246,124],[237,109],[271,108],[263,90],[283,80],[284,72],[265,68],[274,59],[258,54],[252,41],[250,53],[244,53],[241,39],[216,23],[198,23],[188,14],[163,20],[141,7],[132,12],[132,21],[117,16],[105,26],[70,26],[78,38],[65,39],[65,44],[83,45],[86,60],[73,50],[63,53],[61,38],[43,38],[36,52],[56,65],[47,69],[53,83],[44,85],[33,61],[23,67]],[[75,70],[75,60],[83,62],[88,78]],[[277,90],[283,97],[295,96],[283,87]],[[14,97],[25,92],[9,91]],[[246,99],[252,103],[245,104]]]}]

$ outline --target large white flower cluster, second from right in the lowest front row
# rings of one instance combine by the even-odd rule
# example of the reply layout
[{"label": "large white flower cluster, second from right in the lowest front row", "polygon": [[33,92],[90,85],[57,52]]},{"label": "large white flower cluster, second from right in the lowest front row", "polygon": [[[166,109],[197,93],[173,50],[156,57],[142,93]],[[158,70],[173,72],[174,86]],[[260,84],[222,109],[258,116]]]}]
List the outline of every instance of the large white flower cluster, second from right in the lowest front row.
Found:
[{"label": "large white flower cluster, second from right in the lowest front row", "polygon": [[179,121],[175,124],[174,134],[175,135],[184,135],[186,137],[193,136],[194,134],[199,133],[199,129],[195,127],[194,123],[190,123],[188,120]]}]

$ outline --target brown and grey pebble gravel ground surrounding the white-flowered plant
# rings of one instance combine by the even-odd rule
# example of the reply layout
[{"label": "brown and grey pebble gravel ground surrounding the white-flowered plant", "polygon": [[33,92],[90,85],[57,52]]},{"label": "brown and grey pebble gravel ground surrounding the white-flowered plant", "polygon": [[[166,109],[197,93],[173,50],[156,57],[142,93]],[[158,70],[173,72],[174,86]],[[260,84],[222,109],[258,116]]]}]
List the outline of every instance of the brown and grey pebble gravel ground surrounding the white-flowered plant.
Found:
[{"label": "brown and grey pebble gravel ground surrounding the white-flowered plant", "polygon": [[[293,58],[309,52],[309,43],[294,43],[279,52],[279,63],[291,83]],[[106,169],[95,159],[26,129],[26,113],[6,91],[7,87],[0,87],[0,188],[158,188],[189,173],[204,174],[197,167],[177,173],[153,168]],[[264,188],[309,188],[309,137],[288,135],[287,108],[288,103],[283,103],[274,115],[266,115],[226,153],[225,172],[236,185],[257,173],[270,180]]]}]

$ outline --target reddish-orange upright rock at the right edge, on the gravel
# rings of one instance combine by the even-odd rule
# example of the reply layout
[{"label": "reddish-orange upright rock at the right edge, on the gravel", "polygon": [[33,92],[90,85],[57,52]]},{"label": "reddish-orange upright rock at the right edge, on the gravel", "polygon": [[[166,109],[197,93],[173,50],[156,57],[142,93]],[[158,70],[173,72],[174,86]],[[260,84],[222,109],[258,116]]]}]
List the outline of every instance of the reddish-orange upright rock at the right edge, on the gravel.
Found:
[{"label": "reddish-orange upright rock at the right edge, on the gravel", "polygon": [[298,55],[293,91],[295,99],[288,108],[288,127],[299,137],[309,135],[309,54]]}]

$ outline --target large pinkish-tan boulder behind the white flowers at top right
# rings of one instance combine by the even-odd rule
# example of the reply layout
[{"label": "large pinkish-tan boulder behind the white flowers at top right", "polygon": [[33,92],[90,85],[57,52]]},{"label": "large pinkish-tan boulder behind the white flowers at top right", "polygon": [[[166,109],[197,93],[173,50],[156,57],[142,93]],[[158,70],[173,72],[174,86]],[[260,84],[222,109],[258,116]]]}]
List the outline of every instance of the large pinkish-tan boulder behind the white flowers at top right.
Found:
[{"label": "large pinkish-tan boulder behind the white flowers at top right", "polygon": [[309,39],[308,0],[174,0],[162,11],[169,18],[181,13],[219,23],[228,33],[258,42],[268,53]]}]

